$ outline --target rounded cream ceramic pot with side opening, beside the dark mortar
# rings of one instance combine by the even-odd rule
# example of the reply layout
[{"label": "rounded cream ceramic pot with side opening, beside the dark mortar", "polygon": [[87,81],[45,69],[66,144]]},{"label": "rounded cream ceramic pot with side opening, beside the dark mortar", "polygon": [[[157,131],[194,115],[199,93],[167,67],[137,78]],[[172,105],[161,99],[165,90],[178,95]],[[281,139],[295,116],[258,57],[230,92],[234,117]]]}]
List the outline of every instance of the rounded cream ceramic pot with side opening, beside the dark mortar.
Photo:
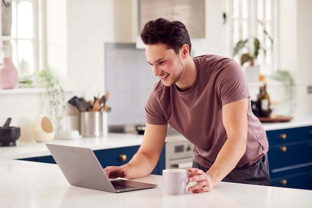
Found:
[{"label": "rounded cream ceramic pot with side opening, beside the dark mortar", "polygon": [[31,137],[37,142],[49,142],[54,139],[55,131],[48,116],[39,115],[31,126]]}]

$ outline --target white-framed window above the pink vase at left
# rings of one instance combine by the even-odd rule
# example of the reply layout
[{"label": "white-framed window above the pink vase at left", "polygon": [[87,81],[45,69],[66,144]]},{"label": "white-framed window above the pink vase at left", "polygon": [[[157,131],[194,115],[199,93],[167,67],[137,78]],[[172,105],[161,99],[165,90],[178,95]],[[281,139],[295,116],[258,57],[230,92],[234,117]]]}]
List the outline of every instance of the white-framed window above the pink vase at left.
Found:
[{"label": "white-framed window above the pink vase at left", "polygon": [[37,0],[2,0],[1,56],[12,57],[19,80],[38,70]]}]

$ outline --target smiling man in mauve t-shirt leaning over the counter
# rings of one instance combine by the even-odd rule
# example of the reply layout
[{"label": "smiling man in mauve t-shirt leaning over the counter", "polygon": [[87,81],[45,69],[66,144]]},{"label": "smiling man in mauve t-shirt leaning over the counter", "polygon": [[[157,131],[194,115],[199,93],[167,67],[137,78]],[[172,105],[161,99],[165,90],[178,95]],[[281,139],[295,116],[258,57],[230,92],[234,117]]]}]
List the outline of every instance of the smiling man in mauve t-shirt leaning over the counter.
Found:
[{"label": "smiling man in mauve t-shirt leaning over the counter", "polygon": [[212,190],[220,181],[269,185],[266,133],[252,113],[240,66],[232,59],[190,56],[185,25],[163,18],[141,32],[146,57],[160,78],[146,102],[146,129],[132,160],[106,167],[110,178],[150,174],[163,147],[167,124],[194,144],[188,169],[193,193]]}]

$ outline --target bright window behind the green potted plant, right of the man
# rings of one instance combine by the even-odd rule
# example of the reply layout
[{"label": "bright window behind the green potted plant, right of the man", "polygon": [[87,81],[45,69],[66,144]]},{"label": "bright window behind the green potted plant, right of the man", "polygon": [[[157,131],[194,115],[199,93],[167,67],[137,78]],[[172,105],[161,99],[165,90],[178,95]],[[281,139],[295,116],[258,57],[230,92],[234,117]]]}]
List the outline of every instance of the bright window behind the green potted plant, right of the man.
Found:
[{"label": "bright window behind the green potted plant, right of the man", "polygon": [[[255,64],[261,66],[262,74],[270,74],[275,66],[274,61],[274,25],[276,0],[228,0],[229,17],[231,19],[232,57],[241,63],[244,53],[254,56],[254,40],[259,39],[260,50],[255,58]],[[246,41],[245,46],[236,54],[234,48],[240,41]],[[250,61],[243,64],[247,66]]]}]

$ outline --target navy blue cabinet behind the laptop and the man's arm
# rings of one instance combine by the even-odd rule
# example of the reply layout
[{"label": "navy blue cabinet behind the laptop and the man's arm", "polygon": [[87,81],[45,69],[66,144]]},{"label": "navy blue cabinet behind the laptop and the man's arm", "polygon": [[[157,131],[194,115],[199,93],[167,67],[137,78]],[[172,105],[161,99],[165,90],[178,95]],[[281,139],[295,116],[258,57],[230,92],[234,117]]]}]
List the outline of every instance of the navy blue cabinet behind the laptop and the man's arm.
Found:
[{"label": "navy blue cabinet behind the laptop and the man's arm", "polygon": [[[103,168],[106,166],[121,166],[128,163],[131,158],[139,150],[140,146],[122,147],[106,150],[95,150],[94,154],[98,158]],[[23,158],[20,160],[35,161],[41,163],[54,163],[52,156],[36,157],[36,158]],[[159,161],[153,170],[152,174],[161,175],[164,169],[164,148],[161,151]]]}]

